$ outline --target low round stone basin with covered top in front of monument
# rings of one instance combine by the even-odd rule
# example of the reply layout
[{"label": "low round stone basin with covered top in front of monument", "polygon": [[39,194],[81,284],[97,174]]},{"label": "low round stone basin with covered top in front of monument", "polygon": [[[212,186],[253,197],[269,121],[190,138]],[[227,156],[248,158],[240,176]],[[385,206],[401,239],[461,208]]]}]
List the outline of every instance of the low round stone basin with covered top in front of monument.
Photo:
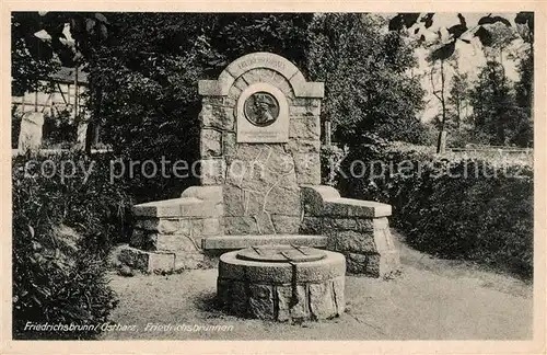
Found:
[{"label": "low round stone basin with covered top in front of monument", "polygon": [[342,254],[296,245],[260,245],[220,256],[217,296],[235,316],[321,320],[345,309]]}]

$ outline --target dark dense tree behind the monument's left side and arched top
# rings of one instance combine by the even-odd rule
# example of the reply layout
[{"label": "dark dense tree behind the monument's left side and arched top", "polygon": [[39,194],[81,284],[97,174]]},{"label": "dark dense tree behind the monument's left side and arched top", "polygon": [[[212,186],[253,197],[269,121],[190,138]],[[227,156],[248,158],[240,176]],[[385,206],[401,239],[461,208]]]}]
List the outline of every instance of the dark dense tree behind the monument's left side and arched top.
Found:
[{"label": "dark dense tree behind the monument's left side and arched top", "polygon": [[[136,160],[199,159],[197,82],[232,60],[272,51],[305,72],[312,14],[109,13],[112,35],[92,50],[92,112],[102,139]],[[140,201],[178,196],[193,179],[137,174]]]}]

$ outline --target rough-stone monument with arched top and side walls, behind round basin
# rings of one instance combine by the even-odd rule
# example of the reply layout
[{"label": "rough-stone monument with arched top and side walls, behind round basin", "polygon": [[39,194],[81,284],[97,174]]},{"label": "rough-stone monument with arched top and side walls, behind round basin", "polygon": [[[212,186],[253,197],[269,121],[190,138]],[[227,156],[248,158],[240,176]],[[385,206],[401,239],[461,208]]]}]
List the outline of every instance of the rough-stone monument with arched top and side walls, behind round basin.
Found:
[{"label": "rough-stone monument with arched top and side walls, behind round basin", "polygon": [[201,185],[135,206],[123,263],[196,268],[225,251],[292,244],[339,252],[349,273],[380,277],[398,268],[391,206],[321,185],[322,82],[307,82],[281,56],[254,53],[198,88]]}]

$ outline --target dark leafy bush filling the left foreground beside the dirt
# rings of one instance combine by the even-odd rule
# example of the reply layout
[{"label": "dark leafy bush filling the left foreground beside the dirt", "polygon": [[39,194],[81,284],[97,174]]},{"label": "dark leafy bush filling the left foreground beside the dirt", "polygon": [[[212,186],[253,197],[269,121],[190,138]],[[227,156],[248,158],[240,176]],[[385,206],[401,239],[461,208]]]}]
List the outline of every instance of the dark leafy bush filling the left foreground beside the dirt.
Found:
[{"label": "dark leafy bush filling the left foreground beside the dirt", "polygon": [[[34,168],[25,164],[35,161]],[[25,331],[27,322],[96,325],[116,305],[107,286],[106,256],[127,232],[131,198],[125,187],[109,184],[106,159],[95,161],[89,179],[40,173],[53,161],[92,163],[80,153],[19,156],[13,159],[13,337],[91,339],[100,330]],[[47,164],[46,164],[47,165]],[[46,167],[44,165],[44,167]]]}]

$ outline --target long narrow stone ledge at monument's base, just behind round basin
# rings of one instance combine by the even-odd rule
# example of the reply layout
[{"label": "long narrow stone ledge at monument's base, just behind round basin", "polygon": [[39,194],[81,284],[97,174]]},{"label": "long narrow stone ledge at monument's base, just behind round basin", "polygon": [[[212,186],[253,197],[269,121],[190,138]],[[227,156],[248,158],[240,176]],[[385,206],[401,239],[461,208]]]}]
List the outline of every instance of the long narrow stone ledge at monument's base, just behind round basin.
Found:
[{"label": "long narrow stone ledge at monument's base, just behind round basin", "polygon": [[201,239],[203,250],[234,250],[252,245],[294,244],[313,248],[327,247],[327,237],[302,234],[220,236]]}]

